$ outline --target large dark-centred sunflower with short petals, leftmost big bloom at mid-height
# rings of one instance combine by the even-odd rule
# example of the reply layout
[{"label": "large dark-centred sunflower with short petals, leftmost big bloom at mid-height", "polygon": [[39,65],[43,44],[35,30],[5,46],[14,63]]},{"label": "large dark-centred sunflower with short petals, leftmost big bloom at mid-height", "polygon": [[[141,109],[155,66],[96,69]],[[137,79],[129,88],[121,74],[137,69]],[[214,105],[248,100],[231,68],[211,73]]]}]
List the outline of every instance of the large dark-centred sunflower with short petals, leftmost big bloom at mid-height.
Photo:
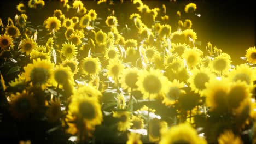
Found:
[{"label": "large dark-centred sunflower with short petals, leftmost big bloom at mid-height", "polygon": [[24,67],[23,76],[26,81],[31,81],[33,85],[44,85],[51,79],[51,70],[54,64],[49,60],[33,60],[33,64]]}]

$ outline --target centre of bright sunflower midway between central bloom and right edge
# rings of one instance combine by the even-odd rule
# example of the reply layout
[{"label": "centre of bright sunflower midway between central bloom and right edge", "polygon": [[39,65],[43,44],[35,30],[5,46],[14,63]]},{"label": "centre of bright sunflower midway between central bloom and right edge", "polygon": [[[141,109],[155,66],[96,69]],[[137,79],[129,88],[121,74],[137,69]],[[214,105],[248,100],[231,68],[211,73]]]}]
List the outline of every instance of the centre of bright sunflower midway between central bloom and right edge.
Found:
[{"label": "centre of bright sunflower midway between central bloom and right edge", "polygon": [[194,84],[196,88],[202,90],[205,89],[205,83],[210,80],[210,77],[205,73],[198,73],[194,78]]}]

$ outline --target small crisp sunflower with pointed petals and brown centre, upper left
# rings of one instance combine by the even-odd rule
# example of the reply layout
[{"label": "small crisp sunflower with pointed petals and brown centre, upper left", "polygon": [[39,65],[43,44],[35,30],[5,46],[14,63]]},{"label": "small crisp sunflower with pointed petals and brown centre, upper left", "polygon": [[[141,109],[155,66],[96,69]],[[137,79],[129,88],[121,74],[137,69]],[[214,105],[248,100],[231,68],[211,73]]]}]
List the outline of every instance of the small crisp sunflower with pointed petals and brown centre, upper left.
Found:
[{"label": "small crisp sunflower with pointed petals and brown centre, upper left", "polygon": [[77,47],[70,42],[62,44],[61,54],[67,59],[75,58],[77,55]]}]

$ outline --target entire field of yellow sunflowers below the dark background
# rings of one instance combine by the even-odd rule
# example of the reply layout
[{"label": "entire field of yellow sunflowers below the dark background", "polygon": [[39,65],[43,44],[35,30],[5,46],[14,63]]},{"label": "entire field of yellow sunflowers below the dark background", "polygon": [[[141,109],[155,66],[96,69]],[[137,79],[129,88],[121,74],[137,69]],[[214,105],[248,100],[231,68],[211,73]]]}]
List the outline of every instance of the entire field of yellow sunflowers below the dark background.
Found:
[{"label": "entire field of yellow sunflowers below the dark background", "polygon": [[203,46],[196,3],[50,2],[0,19],[2,141],[256,143],[256,47]]}]

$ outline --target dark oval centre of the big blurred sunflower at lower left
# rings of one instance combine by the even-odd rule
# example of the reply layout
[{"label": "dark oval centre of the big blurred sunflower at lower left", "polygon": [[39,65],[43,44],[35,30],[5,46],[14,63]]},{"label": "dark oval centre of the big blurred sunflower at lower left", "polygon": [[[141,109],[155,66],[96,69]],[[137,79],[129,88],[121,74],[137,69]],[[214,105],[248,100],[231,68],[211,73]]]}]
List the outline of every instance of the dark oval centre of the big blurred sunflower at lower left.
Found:
[{"label": "dark oval centre of the big blurred sunflower at lower left", "polygon": [[79,103],[78,110],[80,115],[85,119],[94,119],[96,116],[96,111],[94,105],[88,101],[83,101]]}]

